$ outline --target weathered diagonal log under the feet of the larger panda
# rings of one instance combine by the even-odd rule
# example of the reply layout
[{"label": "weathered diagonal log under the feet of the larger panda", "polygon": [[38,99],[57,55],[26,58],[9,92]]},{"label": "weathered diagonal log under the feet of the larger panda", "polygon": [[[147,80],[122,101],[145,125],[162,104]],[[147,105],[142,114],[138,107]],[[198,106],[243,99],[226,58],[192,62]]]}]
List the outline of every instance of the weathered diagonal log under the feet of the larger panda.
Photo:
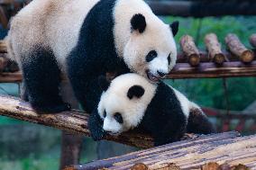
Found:
[{"label": "weathered diagonal log under the feet of the larger panda", "polygon": [[[87,128],[88,114],[84,112],[72,110],[71,112],[61,112],[59,114],[39,115],[32,110],[29,103],[11,96],[0,95],[0,115],[90,136]],[[134,131],[123,133],[118,137],[107,135],[105,139],[138,148],[151,148],[153,146],[153,139],[149,135]]]}]

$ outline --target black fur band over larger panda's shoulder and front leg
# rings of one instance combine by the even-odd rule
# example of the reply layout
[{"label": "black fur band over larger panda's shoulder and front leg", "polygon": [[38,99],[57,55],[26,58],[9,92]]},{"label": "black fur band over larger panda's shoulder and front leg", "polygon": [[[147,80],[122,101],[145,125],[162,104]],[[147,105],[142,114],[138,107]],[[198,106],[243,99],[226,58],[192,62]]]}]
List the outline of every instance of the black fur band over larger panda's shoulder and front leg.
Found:
[{"label": "black fur band over larger panda's shoulder and front leg", "polygon": [[78,46],[68,58],[69,80],[78,101],[87,112],[92,112],[99,102],[102,90],[98,76],[129,72],[114,46],[115,0],[99,1],[87,14],[80,30]]}]

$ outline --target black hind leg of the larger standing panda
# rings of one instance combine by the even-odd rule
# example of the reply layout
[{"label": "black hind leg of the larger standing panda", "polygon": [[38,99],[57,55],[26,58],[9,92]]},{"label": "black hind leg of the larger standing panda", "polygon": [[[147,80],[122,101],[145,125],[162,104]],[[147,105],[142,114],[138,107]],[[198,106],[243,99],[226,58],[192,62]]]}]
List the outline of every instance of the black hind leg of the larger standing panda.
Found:
[{"label": "black hind leg of the larger standing panda", "polygon": [[49,49],[35,48],[24,57],[22,65],[26,94],[33,109],[39,113],[70,109],[59,96],[60,70]]}]

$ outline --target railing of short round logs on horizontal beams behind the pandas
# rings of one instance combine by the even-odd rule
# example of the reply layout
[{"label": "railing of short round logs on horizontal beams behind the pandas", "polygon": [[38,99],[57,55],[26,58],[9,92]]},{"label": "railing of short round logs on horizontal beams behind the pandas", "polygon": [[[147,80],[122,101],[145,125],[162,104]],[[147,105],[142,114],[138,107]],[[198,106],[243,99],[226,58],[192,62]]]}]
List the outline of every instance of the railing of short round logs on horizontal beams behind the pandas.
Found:
[{"label": "railing of short round logs on horizontal beams behind the pandas", "polygon": [[[209,33],[205,37],[206,50],[201,51],[191,36],[184,35],[180,40],[182,52],[178,53],[178,63],[166,78],[256,76],[253,52],[256,34],[249,40],[251,49],[247,49],[236,35],[228,34],[225,37],[227,50],[224,50],[216,35]],[[21,73],[15,72],[17,65],[8,61],[6,55],[5,42],[0,40],[0,82],[22,81]]]}]

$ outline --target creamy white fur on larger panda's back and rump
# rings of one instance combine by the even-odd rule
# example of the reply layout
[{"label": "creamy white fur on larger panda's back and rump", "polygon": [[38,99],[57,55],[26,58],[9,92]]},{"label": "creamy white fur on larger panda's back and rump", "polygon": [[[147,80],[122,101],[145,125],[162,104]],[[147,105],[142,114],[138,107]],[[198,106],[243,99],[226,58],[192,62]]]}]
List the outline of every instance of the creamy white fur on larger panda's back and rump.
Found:
[{"label": "creamy white fur on larger panda's back and rump", "polygon": [[[78,42],[87,13],[99,0],[33,0],[14,16],[8,37],[9,51],[21,66],[21,55],[35,44],[53,50],[60,69],[66,71],[66,58]],[[26,56],[26,55],[23,55]]]}]

